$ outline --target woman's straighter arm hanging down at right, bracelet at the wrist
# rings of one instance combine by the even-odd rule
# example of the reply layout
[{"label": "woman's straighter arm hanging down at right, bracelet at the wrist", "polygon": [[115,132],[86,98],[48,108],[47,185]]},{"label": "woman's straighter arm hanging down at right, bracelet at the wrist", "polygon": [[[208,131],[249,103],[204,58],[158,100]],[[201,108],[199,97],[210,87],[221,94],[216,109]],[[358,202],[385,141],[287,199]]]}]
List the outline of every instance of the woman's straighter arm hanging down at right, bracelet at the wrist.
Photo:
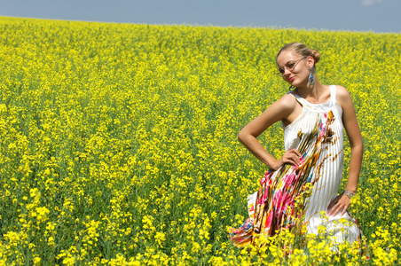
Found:
[{"label": "woman's straighter arm hanging down at right, bracelet at the wrist", "polygon": [[[342,106],[342,124],[347,132],[350,140],[350,174],[346,190],[356,193],[358,188],[359,172],[362,165],[362,156],[364,153],[364,143],[360,133],[357,114],[350,98],[348,90],[341,86],[337,86],[337,101]],[[328,209],[331,208],[328,215],[336,215],[342,209],[342,215],[350,206],[350,198],[347,195],[341,194],[330,203]]]}]

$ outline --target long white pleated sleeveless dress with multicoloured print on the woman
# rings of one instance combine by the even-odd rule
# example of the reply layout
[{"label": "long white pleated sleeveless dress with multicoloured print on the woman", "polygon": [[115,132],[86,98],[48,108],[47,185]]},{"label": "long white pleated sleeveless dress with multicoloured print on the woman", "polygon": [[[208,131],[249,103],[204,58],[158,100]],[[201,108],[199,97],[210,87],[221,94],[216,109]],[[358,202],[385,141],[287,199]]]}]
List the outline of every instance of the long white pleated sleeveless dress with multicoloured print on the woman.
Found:
[{"label": "long white pleated sleeveless dress with multicoloured print on the woman", "polygon": [[264,174],[259,191],[248,196],[249,218],[231,230],[232,242],[235,246],[254,245],[260,235],[272,236],[283,228],[299,230],[304,224],[313,234],[324,225],[334,243],[362,244],[357,221],[348,211],[328,219],[322,216],[342,182],[342,107],[335,100],[335,85],[330,86],[330,99],[323,104],[288,94],[303,106],[303,112],[284,127],[285,150],[297,149],[302,154],[301,164],[285,164]]}]

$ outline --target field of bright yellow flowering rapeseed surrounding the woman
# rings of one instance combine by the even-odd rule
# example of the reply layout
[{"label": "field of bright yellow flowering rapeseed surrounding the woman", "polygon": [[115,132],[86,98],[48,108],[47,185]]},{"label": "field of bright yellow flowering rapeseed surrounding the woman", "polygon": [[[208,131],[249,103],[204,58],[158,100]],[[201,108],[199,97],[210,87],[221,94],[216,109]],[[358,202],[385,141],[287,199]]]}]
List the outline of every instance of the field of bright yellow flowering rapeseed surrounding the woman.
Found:
[{"label": "field of bright yellow flowering rapeseed surrounding the woman", "polygon": [[[401,35],[0,18],[0,264],[392,265],[401,256]],[[350,212],[370,260],[324,238],[232,246],[267,168],[240,129],[287,92],[275,56],[320,51],[365,143]],[[259,137],[279,157],[279,124]],[[346,143],[345,185],[350,145]],[[284,244],[283,244],[284,243]]]}]

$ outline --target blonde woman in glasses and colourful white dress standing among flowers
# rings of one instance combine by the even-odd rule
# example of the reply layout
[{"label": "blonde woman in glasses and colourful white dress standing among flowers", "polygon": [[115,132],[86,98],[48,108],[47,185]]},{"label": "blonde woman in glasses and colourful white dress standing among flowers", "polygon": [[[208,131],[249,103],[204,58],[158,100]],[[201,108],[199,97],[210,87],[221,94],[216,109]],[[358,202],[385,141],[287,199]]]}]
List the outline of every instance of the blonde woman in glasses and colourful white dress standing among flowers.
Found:
[{"label": "blonde woman in glasses and colourful white dress standing among flowers", "polygon": [[[248,196],[248,220],[232,230],[236,246],[253,245],[258,236],[271,236],[283,228],[294,229],[300,224],[297,221],[306,225],[308,233],[316,234],[318,225],[325,225],[337,243],[360,241],[361,232],[347,208],[357,192],[363,141],[350,93],[342,86],[318,82],[315,65],[319,58],[318,51],[303,43],[285,45],[277,65],[294,90],[240,130],[240,142],[271,169],[263,176],[259,192]],[[256,139],[277,121],[284,127],[286,150],[279,160]],[[350,174],[344,192],[337,196],[342,181],[343,129],[350,140]],[[311,192],[308,187],[313,187]],[[341,223],[343,219],[349,223]]]}]

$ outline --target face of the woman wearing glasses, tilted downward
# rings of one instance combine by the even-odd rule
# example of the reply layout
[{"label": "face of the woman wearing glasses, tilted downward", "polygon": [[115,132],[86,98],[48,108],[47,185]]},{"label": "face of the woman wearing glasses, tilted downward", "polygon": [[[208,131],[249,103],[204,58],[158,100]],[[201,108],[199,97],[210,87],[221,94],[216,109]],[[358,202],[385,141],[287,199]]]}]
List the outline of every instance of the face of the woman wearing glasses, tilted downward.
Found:
[{"label": "face of the woman wearing glasses, tilted downward", "polygon": [[307,84],[313,59],[311,57],[303,58],[293,51],[282,51],[277,58],[277,66],[283,80],[293,87],[299,87]]}]

